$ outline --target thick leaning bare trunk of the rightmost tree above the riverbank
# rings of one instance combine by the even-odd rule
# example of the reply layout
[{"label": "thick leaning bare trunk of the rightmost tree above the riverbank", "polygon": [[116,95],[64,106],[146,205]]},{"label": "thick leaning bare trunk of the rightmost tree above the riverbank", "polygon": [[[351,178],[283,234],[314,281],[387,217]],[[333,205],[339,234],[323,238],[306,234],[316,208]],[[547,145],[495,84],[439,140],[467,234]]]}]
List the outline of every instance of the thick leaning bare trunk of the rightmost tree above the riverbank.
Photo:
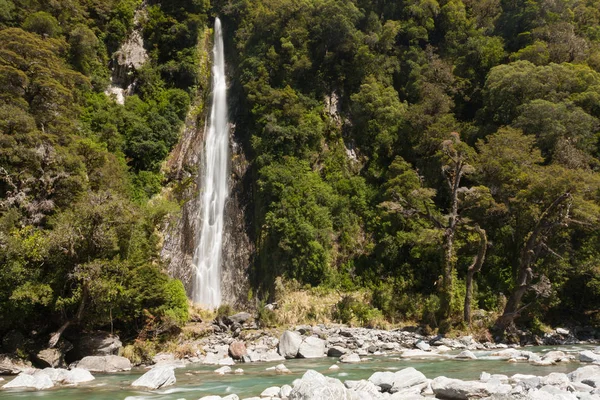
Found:
[{"label": "thick leaning bare trunk of the rightmost tree above the riverbank", "polygon": [[535,225],[525,246],[521,250],[521,259],[519,261],[519,276],[517,277],[517,286],[510,295],[502,316],[498,318],[495,324],[495,329],[500,333],[504,334],[506,328],[514,324],[515,318],[519,316],[522,309],[519,309],[521,305],[521,299],[529,289],[531,278],[533,278],[533,270],[531,265],[535,262],[540,245],[543,243],[545,236],[550,233],[554,226],[560,224],[568,218],[568,215],[561,216],[559,222],[551,223],[550,220],[554,216],[555,211],[560,205],[571,197],[571,193],[566,192],[558,196],[546,210],[540,216],[540,220]]}]

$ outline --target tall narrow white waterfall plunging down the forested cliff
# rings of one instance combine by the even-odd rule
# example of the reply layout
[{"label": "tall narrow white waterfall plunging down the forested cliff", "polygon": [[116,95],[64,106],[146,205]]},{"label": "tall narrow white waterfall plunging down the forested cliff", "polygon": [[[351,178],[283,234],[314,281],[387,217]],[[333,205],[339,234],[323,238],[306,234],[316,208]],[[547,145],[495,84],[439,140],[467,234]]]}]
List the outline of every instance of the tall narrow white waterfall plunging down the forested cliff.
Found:
[{"label": "tall narrow white waterfall plunging down the forested cliff", "polygon": [[200,240],[194,253],[192,300],[205,307],[221,304],[221,247],[223,213],[227,199],[229,129],[225,82],[225,56],[221,21],[215,19],[213,47],[213,99],[204,152]]}]

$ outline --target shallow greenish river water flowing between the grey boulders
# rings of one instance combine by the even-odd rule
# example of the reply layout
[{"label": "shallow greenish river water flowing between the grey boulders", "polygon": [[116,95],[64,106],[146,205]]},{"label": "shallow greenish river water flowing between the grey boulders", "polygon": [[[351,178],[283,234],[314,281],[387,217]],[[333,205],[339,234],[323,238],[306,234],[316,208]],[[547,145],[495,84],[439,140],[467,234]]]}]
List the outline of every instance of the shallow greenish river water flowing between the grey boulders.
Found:
[{"label": "shallow greenish river water flowing between the grey boulders", "polygon": [[[546,352],[549,350],[562,350],[577,352],[591,349],[594,346],[565,346],[565,347],[528,347],[526,350],[533,352]],[[457,351],[451,354],[456,354]],[[0,391],[0,398],[11,399],[43,399],[43,400],[197,400],[198,398],[236,393],[240,398],[259,396],[270,386],[292,384],[296,378],[302,377],[307,369],[314,369],[324,375],[346,381],[349,379],[367,379],[376,371],[394,371],[406,367],[414,367],[428,378],[446,376],[458,379],[479,379],[482,371],[497,374],[532,374],[548,375],[551,372],[567,373],[585,364],[579,362],[562,363],[553,366],[533,366],[524,363],[509,363],[490,357],[490,352],[474,351],[478,360],[407,360],[400,359],[397,355],[374,356],[360,364],[338,364],[339,370],[330,371],[328,368],[337,362],[337,358],[325,357],[319,359],[287,360],[285,365],[292,371],[288,375],[277,375],[265,369],[278,363],[252,363],[238,364],[232,368],[243,368],[243,375],[216,375],[213,371],[217,366],[190,364],[187,368],[175,370],[177,383],[165,389],[154,391],[135,390],[131,383],[141,376],[145,370],[136,369],[120,374],[95,374],[96,380],[89,384],[77,387],[59,387],[39,392],[26,391]],[[5,377],[8,381],[11,377]]]}]

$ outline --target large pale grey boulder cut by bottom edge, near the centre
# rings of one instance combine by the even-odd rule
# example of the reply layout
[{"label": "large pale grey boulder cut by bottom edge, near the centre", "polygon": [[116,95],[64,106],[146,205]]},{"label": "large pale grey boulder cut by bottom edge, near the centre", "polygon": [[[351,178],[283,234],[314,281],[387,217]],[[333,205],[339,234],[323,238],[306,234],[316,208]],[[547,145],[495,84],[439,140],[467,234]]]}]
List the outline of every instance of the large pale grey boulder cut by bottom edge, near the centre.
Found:
[{"label": "large pale grey boulder cut by bottom edge, near the centre", "polygon": [[338,379],[326,378],[317,371],[308,370],[302,379],[294,381],[290,400],[343,400],[349,399],[348,390]]}]

